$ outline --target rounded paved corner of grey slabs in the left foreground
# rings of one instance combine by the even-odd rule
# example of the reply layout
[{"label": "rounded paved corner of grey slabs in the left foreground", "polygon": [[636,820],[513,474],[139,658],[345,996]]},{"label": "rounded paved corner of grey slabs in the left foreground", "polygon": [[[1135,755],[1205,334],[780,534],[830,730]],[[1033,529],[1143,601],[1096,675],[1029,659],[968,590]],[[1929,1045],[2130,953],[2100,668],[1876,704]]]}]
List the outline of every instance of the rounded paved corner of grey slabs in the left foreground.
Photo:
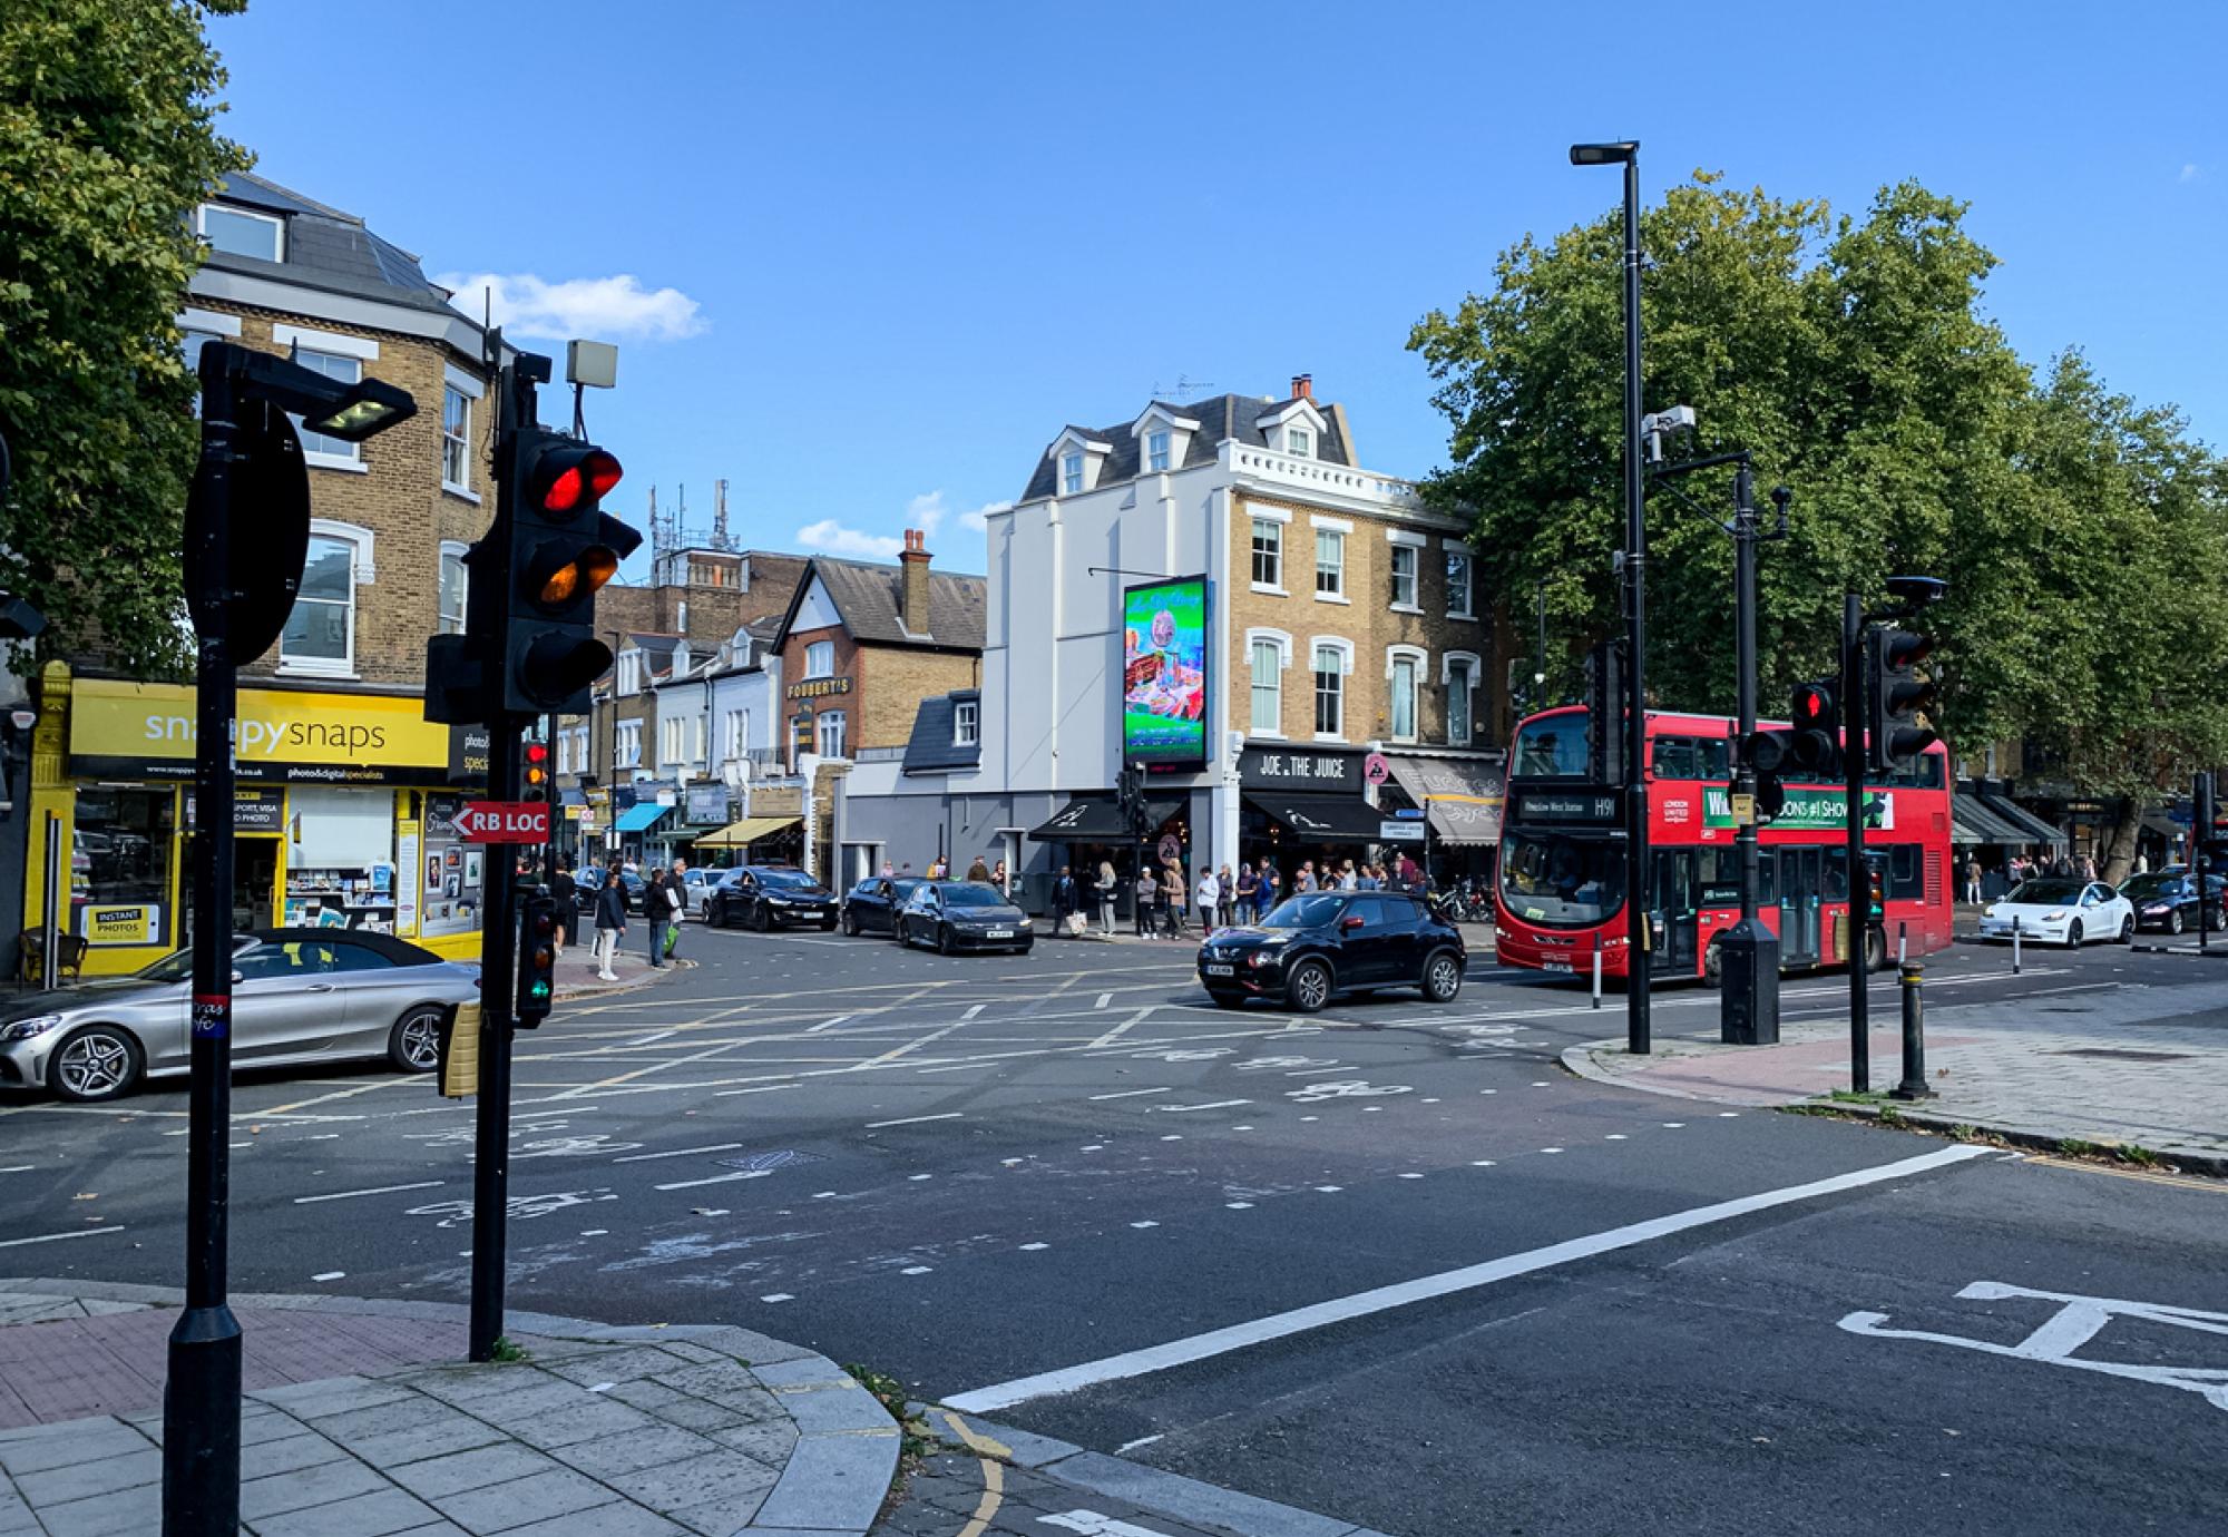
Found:
[{"label": "rounded paved corner of grey slabs in the left foreground", "polygon": [[[0,1533],[160,1530],[178,1294],[0,1281]],[[524,1361],[470,1365],[466,1310],[241,1296],[250,1537],[864,1537],[898,1426],[842,1368],[740,1328],[512,1312]]]}]

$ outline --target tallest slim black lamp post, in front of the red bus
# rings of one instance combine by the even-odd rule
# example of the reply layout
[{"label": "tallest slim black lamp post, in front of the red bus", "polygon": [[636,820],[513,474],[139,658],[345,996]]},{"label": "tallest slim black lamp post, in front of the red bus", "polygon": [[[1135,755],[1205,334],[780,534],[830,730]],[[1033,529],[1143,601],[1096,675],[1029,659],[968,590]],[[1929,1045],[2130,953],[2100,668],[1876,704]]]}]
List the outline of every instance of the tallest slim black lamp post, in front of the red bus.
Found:
[{"label": "tallest slim black lamp post, in front of the red bus", "polygon": [[1640,466],[1640,140],[1571,145],[1571,165],[1624,167],[1624,1047],[1651,1049],[1649,1027],[1649,786],[1646,786],[1646,566],[1649,526]]}]

